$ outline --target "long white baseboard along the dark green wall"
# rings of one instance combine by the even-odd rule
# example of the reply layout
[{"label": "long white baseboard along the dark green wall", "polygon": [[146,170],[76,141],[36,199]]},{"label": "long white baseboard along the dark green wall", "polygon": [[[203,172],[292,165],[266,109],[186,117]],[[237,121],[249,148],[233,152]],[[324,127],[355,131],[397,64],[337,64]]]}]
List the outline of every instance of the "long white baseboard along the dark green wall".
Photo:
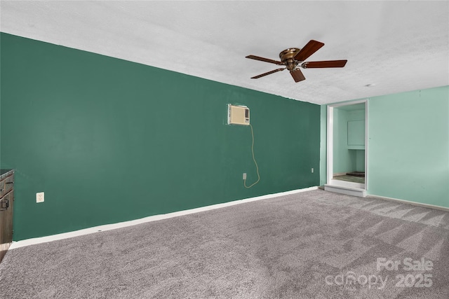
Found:
[{"label": "long white baseboard along the dark green wall", "polygon": [[99,225],[99,226],[94,226],[92,228],[84,228],[83,230],[75,230],[73,232],[64,232],[64,233],[58,234],[58,235],[50,235],[50,236],[46,236],[46,237],[37,237],[37,238],[32,238],[32,239],[23,239],[23,240],[20,240],[17,242],[13,242],[13,244],[11,244],[11,246],[9,247],[9,250],[13,250],[13,249],[20,248],[23,246],[52,242],[52,241],[56,241],[59,239],[68,239],[71,237],[78,237],[81,235],[93,234],[95,232],[102,232],[105,230],[114,230],[116,228],[126,228],[127,226],[137,225],[140,223],[158,221],[158,220],[173,218],[173,217],[177,217],[177,216],[194,214],[194,213],[198,213],[200,211],[209,211],[212,209],[220,209],[222,207],[230,207],[235,204],[243,204],[245,202],[254,202],[256,200],[265,200],[265,199],[272,198],[272,197],[279,197],[279,196],[283,196],[283,195],[290,195],[290,194],[301,193],[301,192],[316,190],[316,189],[318,189],[318,186],[304,188],[304,189],[290,190],[290,191],[281,192],[281,193],[267,194],[267,195],[262,195],[262,196],[257,196],[257,197],[250,197],[250,198],[246,198],[244,200],[234,200],[232,202],[224,202],[222,204],[213,204],[213,205],[206,206],[206,207],[199,207],[199,208],[188,209],[188,210],[184,210],[184,211],[175,211],[173,213],[168,213],[168,214],[159,214],[159,215],[154,215],[154,216],[148,216],[145,218],[140,218],[140,219],[131,220],[131,221],[124,221],[124,222],[120,222],[120,223]]}]

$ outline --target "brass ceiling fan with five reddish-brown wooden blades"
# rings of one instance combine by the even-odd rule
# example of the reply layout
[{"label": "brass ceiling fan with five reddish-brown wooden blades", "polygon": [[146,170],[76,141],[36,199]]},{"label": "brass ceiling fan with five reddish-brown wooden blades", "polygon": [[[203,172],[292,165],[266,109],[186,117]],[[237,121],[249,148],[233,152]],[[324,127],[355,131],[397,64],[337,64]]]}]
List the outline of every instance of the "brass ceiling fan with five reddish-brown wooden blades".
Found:
[{"label": "brass ceiling fan with five reddish-brown wooden blades", "polygon": [[303,69],[315,69],[315,68],[324,68],[324,67],[344,67],[344,64],[346,64],[347,60],[326,60],[326,61],[304,62],[304,60],[307,60],[307,58],[310,57],[310,55],[314,54],[322,46],[324,46],[324,43],[321,43],[319,41],[314,41],[312,39],[302,49],[288,48],[286,50],[283,50],[281,53],[279,53],[279,58],[281,58],[281,61],[270,60],[268,58],[259,57],[259,56],[255,56],[255,55],[248,55],[248,56],[246,56],[246,58],[286,66],[285,68],[268,71],[267,73],[260,74],[260,75],[257,75],[257,76],[251,77],[251,78],[257,79],[257,78],[260,78],[263,76],[267,76],[269,74],[276,73],[277,71],[283,71],[284,69],[288,69],[290,71],[290,74],[293,77],[293,80],[295,80],[295,82],[300,82],[300,81],[303,81],[306,79],[304,77],[304,75],[302,74],[300,67],[302,67]]}]

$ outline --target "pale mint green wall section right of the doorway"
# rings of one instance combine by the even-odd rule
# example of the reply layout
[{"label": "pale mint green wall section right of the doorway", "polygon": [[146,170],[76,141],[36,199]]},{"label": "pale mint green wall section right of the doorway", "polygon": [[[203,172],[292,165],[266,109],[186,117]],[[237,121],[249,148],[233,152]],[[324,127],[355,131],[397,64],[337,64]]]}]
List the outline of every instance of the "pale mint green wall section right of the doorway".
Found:
[{"label": "pale mint green wall section right of the doorway", "polygon": [[449,86],[368,101],[368,193],[449,207]]}]

